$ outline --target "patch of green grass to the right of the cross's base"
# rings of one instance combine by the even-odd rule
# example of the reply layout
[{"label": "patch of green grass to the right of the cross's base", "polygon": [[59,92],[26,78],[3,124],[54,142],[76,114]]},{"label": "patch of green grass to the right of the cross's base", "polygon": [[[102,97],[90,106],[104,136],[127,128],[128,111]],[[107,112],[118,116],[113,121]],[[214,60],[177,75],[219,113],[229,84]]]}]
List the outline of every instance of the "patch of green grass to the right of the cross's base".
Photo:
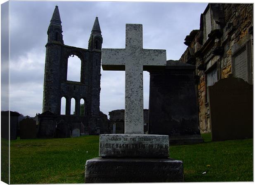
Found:
[{"label": "patch of green grass to the right of the cross's base", "polygon": [[[182,160],[185,182],[253,181],[253,139],[171,146],[170,157]],[[206,172],[203,174],[203,172]]]}]

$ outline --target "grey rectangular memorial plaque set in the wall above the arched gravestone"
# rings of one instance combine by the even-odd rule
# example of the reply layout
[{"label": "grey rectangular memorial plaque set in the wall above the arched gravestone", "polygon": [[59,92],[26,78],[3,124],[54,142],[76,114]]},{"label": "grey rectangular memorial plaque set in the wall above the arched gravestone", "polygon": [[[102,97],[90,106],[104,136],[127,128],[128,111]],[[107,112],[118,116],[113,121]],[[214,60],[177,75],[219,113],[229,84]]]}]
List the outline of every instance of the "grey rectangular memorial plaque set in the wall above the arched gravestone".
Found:
[{"label": "grey rectangular memorial plaque set in the wall above the arched gravestone", "polygon": [[234,56],[234,70],[235,77],[244,79],[244,81],[249,83],[246,49]]}]

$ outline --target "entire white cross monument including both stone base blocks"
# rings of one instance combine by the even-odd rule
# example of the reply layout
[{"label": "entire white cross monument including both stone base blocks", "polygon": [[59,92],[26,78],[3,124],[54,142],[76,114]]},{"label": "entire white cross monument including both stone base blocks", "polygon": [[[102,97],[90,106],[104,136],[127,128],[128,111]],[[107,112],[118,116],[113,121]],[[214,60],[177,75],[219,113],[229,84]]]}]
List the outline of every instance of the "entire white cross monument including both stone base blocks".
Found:
[{"label": "entire white cross monument including both stone base blocks", "polygon": [[170,159],[169,136],[143,134],[143,69],[164,66],[165,50],[142,48],[142,25],[126,24],[126,49],[102,49],[104,70],[125,70],[125,134],[100,135],[85,183],[182,182],[183,162]]}]

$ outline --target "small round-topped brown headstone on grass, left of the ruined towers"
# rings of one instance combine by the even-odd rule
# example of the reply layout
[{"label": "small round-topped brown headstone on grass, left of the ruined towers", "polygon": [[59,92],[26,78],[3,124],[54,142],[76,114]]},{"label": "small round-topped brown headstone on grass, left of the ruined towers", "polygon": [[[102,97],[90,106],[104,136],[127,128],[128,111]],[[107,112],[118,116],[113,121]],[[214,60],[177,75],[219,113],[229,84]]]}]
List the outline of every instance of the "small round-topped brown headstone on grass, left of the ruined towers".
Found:
[{"label": "small round-topped brown headstone on grass, left of the ruined towers", "polygon": [[19,123],[20,139],[36,138],[36,121],[32,118],[26,118]]}]

